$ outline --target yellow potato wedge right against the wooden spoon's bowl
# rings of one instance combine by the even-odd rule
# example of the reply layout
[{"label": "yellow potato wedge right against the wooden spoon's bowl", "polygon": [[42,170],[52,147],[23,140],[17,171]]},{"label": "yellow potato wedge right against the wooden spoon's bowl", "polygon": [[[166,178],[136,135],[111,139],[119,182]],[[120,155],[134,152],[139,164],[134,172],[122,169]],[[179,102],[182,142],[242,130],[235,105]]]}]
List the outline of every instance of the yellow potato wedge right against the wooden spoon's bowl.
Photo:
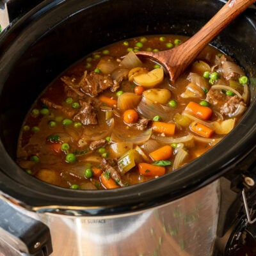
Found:
[{"label": "yellow potato wedge right against the wooden spoon's bowl", "polygon": [[161,83],[164,79],[163,68],[155,68],[147,74],[141,74],[134,77],[134,83],[144,86],[146,88],[152,88]]}]

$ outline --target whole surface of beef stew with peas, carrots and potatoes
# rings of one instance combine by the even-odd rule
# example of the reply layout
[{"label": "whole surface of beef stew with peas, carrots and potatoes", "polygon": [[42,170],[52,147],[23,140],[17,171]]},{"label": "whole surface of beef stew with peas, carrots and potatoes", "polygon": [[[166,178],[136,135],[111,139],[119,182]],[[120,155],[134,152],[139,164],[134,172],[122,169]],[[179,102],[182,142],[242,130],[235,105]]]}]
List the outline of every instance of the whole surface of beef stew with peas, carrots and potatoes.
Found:
[{"label": "whole surface of beef stew with peas, carrots and potatoes", "polygon": [[131,38],[66,70],[24,120],[20,167],[64,188],[113,189],[173,172],[214,147],[246,111],[242,68],[207,46],[170,84],[161,65],[134,53],[186,39]]}]

